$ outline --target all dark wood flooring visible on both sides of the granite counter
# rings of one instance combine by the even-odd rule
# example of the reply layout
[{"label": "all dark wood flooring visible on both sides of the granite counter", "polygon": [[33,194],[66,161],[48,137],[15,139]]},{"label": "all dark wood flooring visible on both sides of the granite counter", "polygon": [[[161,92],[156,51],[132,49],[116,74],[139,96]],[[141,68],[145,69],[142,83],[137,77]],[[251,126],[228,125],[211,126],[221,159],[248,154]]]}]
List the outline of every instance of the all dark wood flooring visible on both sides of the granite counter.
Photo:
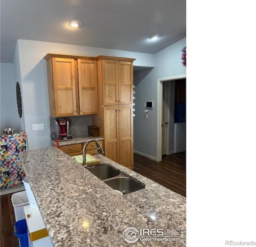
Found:
[{"label": "all dark wood flooring visible on both sides of the granite counter", "polygon": [[[186,196],[186,153],[163,156],[162,162],[156,162],[134,154],[134,171]],[[14,236],[14,209],[12,194],[1,196],[1,247],[19,247],[18,238]]]}]

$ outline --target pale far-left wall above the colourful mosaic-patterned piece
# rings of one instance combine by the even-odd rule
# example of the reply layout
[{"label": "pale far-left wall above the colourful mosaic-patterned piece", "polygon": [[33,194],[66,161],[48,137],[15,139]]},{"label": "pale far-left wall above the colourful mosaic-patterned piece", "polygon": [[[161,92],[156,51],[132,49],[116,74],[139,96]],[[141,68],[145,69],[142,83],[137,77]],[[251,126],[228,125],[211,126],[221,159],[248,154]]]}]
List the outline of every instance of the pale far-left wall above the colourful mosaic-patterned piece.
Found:
[{"label": "pale far-left wall above the colourful mosaic-patterned piece", "polygon": [[13,63],[1,63],[1,132],[4,128],[20,129],[16,103],[16,79]]}]

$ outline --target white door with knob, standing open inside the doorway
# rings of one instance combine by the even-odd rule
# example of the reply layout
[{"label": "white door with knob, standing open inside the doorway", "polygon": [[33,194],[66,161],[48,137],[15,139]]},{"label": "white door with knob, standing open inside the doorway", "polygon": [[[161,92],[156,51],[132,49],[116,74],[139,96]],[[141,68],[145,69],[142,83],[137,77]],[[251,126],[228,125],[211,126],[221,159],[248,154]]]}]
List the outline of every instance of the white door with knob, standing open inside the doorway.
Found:
[{"label": "white door with knob, standing open inside the doorway", "polygon": [[163,83],[162,155],[169,153],[170,83]]}]

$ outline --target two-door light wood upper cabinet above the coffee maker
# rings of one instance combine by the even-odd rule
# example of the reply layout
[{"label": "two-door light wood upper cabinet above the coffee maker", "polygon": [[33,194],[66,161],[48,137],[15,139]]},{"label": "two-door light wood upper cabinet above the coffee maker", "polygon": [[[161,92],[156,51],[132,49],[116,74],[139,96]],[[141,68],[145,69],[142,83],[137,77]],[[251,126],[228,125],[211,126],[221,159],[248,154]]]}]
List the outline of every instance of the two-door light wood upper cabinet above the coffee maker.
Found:
[{"label": "two-door light wood upper cabinet above the coffee maker", "polygon": [[98,112],[97,63],[93,59],[47,54],[50,115],[66,117]]}]

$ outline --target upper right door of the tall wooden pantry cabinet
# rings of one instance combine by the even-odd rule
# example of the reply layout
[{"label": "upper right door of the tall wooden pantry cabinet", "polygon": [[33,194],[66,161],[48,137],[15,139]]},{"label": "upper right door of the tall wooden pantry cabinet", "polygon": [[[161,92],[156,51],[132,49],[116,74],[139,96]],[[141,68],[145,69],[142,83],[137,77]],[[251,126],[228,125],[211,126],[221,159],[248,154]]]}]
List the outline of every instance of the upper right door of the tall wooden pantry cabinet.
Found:
[{"label": "upper right door of the tall wooden pantry cabinet", "polygon": [[118,61],[118,103],[132,104],[133,68],[130,61]]}]

